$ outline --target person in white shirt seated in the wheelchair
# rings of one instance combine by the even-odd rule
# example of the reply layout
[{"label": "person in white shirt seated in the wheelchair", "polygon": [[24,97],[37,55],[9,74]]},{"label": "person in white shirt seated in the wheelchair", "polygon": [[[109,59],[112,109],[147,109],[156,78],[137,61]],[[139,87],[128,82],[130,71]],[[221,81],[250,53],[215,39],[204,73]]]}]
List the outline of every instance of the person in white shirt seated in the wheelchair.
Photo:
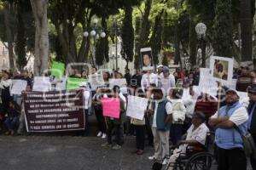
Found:
[{"label": "person in white shirt seated in the wheelchair", "polygon": [[192,154],[206,150],[207,133],[209,129],[205,123],[205,115],[196,111],[192,116],[192,125],[187,131],[187,137],[185,140],[180,140],[179,143],[172,147],[173,152],[170,156],[167,168],[172,170],[175,166],[177,158],[183,156],[189,158]]}]

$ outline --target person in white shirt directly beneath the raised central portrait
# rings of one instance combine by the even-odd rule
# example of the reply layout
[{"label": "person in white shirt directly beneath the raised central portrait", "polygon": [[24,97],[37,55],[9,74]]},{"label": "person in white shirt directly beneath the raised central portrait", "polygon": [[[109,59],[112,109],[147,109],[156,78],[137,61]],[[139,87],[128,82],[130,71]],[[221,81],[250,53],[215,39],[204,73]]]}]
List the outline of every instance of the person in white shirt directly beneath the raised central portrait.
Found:
[{"label": "person in white shirt directly beneath the raised central portrait", "polygon": [[145,92],[145,90],[149,88],[150,84],[155,84],[156,86],[158,85],[158,77],[152,71],[148,71],[148,73],[143,74],[141,82],[143,92]]}]

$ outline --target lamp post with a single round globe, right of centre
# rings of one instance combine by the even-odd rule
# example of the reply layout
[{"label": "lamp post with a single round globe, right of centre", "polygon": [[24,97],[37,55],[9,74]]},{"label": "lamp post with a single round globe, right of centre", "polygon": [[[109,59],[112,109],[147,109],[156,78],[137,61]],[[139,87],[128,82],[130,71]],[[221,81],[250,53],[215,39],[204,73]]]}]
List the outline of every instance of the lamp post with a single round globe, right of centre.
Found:
[{"label": "lamp post with a single round globe, right of centre", "polygon": [[[201,48],[201,66],[206,67],[206,43],[205,43],[205,37],[207,32],[207,26],[200,22],[195,26],[195,31],[197,34],[197,37],[200,41],[200,48]],[[199,48],[199,49],[200,49]]]}]

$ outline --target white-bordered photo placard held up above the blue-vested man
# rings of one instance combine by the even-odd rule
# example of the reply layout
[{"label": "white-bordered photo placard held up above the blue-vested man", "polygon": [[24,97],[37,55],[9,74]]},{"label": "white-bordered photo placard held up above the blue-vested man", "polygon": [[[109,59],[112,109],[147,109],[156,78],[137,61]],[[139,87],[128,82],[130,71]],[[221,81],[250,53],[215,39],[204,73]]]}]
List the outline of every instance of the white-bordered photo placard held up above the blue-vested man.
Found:
[{"label": "white-bordered photo placard held up above the blue-vested man", "polygon": [[233,76],[233,59],[224,57],[211,57],[210,67],[212,76],[219,82],[231,82]]}]

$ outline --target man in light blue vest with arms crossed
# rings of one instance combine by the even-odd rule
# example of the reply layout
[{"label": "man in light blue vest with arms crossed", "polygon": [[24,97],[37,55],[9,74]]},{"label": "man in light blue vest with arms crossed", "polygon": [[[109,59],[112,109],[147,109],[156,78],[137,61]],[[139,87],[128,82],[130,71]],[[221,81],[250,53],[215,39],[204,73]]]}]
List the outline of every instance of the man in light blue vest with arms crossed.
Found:
[{"label": "man in light blue vest with arms crossed", "polygon": [[239,102],[235,89],[226,91],[225,102],[227,105],[209,119],[209,125],[216,129],[218,170],[246,170],[247,158],[241,134],[247,133],[247,110]]}]

